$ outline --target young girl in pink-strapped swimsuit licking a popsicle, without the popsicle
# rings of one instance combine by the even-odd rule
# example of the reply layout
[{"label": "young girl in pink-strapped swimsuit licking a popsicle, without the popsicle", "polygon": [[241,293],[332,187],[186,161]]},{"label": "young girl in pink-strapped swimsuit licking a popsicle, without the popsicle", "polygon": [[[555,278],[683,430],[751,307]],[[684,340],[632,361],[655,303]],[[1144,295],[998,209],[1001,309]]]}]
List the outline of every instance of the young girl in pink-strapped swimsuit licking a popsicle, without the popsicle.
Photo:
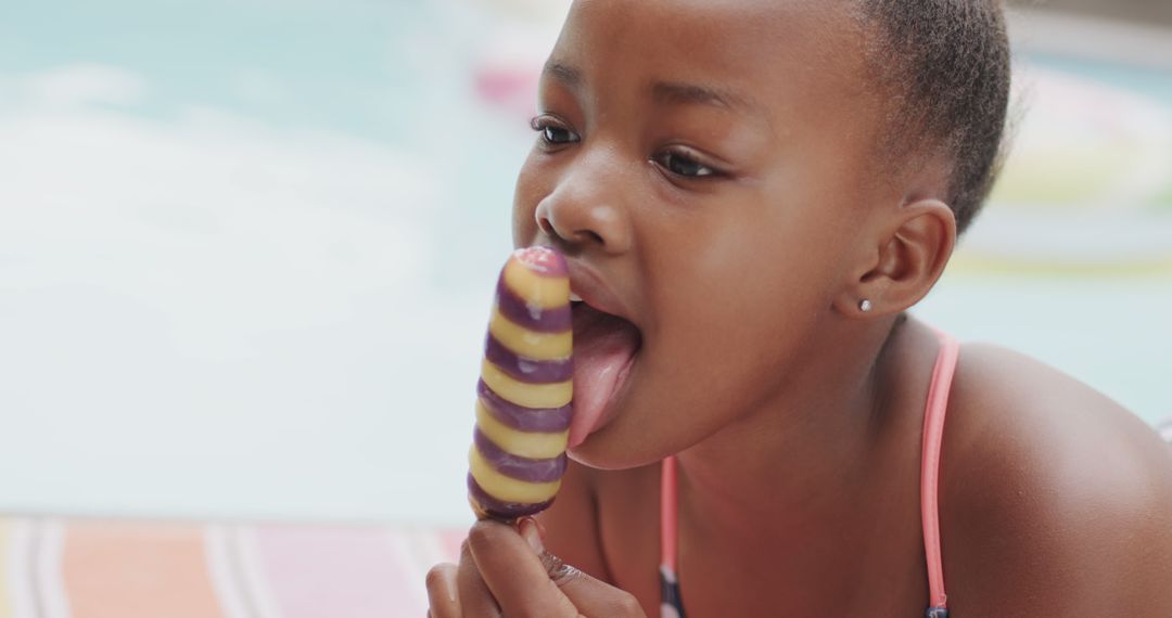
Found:
[{"label": "young girl in pink-strapped swimsuit licking a popsicle, without the popsicle", "polygon": [[572,465],[430,616],[1172,616],[1166,446],[904,313],[1008,63],[992,0],[577,1],[513,220],[582,301]]}]

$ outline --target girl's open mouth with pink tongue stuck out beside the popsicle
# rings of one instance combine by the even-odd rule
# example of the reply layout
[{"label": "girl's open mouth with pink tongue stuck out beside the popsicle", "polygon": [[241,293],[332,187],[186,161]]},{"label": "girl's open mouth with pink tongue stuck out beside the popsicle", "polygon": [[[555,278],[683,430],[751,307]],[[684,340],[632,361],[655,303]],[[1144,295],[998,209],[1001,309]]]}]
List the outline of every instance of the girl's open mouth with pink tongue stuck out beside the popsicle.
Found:
[{"label": "girl's open mouth with pink tongue stuck out beside the popsicle", "polygon": [[574,416],[570,448],[598,428],[639,346],[634,324],[586,304],[574,307]]}]

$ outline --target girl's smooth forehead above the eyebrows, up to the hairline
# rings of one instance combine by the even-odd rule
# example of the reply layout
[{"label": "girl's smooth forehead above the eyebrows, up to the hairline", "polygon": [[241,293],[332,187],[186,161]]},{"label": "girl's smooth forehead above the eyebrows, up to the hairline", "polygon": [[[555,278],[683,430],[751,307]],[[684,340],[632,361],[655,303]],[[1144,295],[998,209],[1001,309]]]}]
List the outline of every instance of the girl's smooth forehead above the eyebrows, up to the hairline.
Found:
[{"label": "girl's smooth forehead above the eyebrows, up to the hairline", "polygon": [[[547,75],[650,92],[701,84],[766,115],[843,101],[865,83],[846,2],[827,0],[578,0]],[[561,69],[570,69],[568,71]],[[650,92],[654,94],[654,92]]]}]

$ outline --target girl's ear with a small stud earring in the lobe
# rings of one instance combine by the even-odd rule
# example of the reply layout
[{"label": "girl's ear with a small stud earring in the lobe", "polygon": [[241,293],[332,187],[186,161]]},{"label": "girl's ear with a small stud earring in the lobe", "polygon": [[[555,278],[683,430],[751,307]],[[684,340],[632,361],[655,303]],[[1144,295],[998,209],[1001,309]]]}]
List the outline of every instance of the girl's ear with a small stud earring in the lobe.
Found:
[{"label": "girl's ear with a small stud earring in the lobe", "polygon": [[[956,245],[956,218],[935,199],[895,210],[871,236],[834,308],[847,316],[898,314],[920,302],[940,279]],[[870,311],[860,308],[870,301]]]}]

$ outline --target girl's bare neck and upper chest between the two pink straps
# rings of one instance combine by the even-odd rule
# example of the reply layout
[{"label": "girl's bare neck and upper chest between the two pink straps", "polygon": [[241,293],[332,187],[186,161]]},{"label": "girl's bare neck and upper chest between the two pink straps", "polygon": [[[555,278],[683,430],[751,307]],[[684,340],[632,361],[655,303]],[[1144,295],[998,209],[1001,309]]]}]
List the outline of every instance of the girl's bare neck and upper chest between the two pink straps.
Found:
[{"label": "girl's bare neck and upper chest between the two pink straps", "polygon": [[[718,602],[713,613],[766,611],[724,595],[737,582],[793,616],[892,614],[875,599],[907,607],[927,593],[926,571],[902,584],[875,574],[924,569],[915,408],[935,338],[914,321],[851,327],[792,363],[768,405],[677,455],[681,582],[709,586],[697,596]],[[696,564],[718,577],[691,578]],[[841,593],[827,597],[827,582]]]}]

